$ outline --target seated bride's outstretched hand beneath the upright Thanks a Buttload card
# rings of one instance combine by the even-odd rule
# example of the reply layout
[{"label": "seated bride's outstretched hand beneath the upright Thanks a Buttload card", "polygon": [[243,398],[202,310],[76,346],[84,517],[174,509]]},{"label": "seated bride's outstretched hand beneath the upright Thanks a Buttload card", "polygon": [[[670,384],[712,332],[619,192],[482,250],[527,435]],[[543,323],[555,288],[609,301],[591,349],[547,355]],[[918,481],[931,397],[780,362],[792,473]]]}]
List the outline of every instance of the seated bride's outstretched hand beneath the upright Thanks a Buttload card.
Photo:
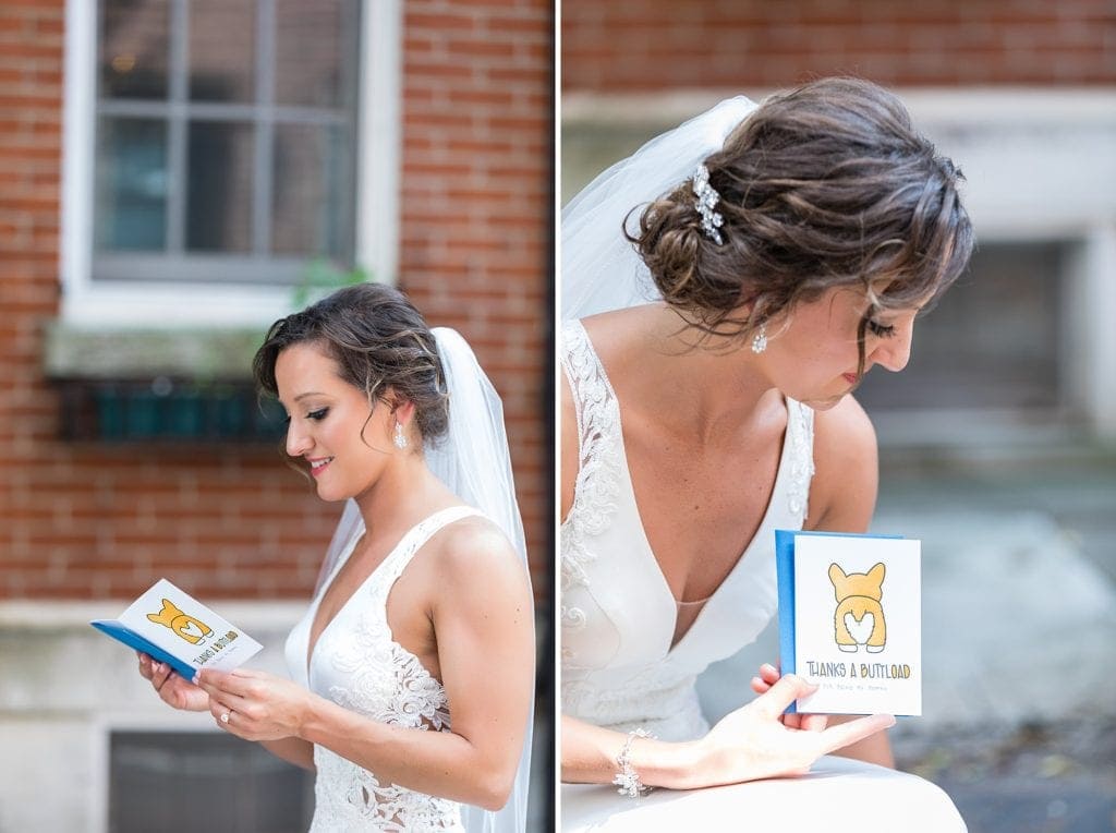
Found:
[{"label": "seated bride's outstretched hand beneath the upright Thanks a Buttload card", "polygon": [[698,741],[701,773],[695,776],[713,785],[802,775],[822,755],[895,725],[891,715],[873,715],[822,730],[787,726],[781,720],[783,710],[816,690],[800,677],[787,674],[725,716]]}]

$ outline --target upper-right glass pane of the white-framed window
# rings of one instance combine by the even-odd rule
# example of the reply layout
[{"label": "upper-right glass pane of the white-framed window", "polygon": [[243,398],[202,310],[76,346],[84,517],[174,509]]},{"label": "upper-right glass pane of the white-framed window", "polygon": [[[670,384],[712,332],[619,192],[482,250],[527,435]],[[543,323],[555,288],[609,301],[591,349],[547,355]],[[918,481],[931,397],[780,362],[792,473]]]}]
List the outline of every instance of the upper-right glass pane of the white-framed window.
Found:
[{"label": "upper-right glass pane of the white-framed window", "polygon": [[356,77],[355,0],[277,0],[276,103],[348,106]]}]

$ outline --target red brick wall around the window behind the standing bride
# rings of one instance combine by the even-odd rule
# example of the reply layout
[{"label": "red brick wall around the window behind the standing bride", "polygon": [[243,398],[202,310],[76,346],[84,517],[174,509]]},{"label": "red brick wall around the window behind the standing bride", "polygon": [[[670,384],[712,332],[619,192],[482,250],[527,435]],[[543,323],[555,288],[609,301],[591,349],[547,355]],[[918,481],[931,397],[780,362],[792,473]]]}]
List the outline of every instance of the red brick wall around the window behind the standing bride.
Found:
[{"label": "red brick wall around the window behind the standing bride", "polygon": [[[275,449],[56,439],[41,334],[58,313],[64,10],[0,0],[0,597],[126,597],[160,575],[206,599],[305,596],[338,507]],[[549,4],[408,2],[405,31],[402,284],[504,394],[546,597]]]}]

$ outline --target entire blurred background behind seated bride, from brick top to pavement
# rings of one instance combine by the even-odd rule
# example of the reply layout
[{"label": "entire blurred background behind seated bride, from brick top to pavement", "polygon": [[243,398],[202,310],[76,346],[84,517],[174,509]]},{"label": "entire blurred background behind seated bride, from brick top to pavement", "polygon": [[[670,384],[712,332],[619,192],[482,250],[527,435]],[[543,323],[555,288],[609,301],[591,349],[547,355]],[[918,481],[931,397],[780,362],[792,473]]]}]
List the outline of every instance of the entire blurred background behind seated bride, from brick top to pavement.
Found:
[{"label": "entire blurred background behind seated bride, from brick top to pavement", "polygon": [[[923,539],[925,716],[893,731],[899,763],[973,833],[1116,830],[1116,7],[565,0],[562,202],[723,97],[827,75],[903,97],[978,236],[907,370],[858,393],[875,528]],[[773,633],[711,670],[712,712]]]}]

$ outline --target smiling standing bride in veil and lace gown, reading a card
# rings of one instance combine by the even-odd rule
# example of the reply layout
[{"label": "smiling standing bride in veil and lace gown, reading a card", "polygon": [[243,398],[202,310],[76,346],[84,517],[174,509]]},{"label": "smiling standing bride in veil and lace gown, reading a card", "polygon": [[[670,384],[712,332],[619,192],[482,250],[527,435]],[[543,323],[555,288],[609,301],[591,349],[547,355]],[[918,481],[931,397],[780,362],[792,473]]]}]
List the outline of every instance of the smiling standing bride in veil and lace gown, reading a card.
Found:
[{"label": "smiling standing bride in veil and lace gown, reading a card", "polygon": [[[364,284],[271,327],[286,453],[347,500],[292,681],[141,655],[180,709],[316,770],[316,831],[525,829],[533,615],[499,399],[453,331]],[[502,810],[501,810],[502,808]]]}]

